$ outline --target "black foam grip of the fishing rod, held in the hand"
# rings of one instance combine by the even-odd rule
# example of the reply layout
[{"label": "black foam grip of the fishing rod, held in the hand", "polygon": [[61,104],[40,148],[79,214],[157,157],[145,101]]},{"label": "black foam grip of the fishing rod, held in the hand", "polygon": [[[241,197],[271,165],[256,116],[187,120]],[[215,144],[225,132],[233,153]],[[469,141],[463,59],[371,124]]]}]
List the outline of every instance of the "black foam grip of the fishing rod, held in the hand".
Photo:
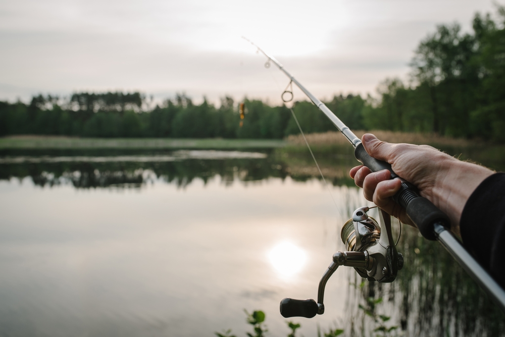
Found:
[{"label": "black foam grip of the fishing rod, held in the hand", "polygon": [[[363,165],[370,168],[370,171],[379,172],[388,170],[391,172],[391,179],[400,178],[393,172],[389,163],[371,157],[365,150],[363,143],[359,143],[358,146],[356,146],[354,155]],[[436,240],[434,231],[435,223],[443,223],[444,227],[449,227],[450,221],[447,215],[433,205],[431,201],[420,196],[417,188],[403,179],[401,179],[401,187],[393,196],[393,200],[406,209],[407,215],[419,229],[421,235],[428,240]]]}]

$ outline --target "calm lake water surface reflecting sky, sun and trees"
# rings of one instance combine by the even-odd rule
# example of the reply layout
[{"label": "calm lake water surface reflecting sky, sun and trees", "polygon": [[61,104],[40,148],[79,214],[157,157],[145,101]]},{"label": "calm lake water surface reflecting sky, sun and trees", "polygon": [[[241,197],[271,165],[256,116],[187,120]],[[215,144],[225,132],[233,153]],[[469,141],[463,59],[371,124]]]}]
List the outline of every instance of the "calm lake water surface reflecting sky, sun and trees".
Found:
[{"label": "calm lake water surface reflecting sky, sun and trees", "polygon": [[[2,155],[0,335],[241,336],[243,309],[287,335],[279,301],[317,296],[344,250],[342,224],[368,204],[334,179],[336,206],[321,181],[290,174],[295,165],[238,151]],[[340,267],[325,314],[293,319],[301,334],[375,335],[382,323],[362,308],[390,317],[389,335],[503,330],[503,314],[437,243],[406,229],[398,251],[405,267],[390,285]]]}]

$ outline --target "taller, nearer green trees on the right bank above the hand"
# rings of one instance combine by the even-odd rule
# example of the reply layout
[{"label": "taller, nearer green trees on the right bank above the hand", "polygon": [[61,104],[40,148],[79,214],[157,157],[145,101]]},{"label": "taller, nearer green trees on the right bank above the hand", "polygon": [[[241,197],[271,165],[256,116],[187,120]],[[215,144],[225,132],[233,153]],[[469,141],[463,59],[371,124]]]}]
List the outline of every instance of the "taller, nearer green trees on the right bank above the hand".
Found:
[{"label": "taller, nearer green trees on the right bank above the hand", "polygon": [[388,79],[366,128],[505,141],[505,7],[476,14],[472,32],[439,25],[411,62],[411,83]]}]

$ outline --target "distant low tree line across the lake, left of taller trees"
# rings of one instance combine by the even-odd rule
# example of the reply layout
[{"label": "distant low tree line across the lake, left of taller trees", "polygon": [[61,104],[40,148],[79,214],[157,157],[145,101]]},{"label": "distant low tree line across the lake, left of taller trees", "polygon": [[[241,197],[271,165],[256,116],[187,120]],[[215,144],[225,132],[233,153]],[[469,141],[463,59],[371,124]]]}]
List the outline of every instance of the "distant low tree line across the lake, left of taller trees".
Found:
[{"label": "distant low tree line across the lake, left of taller trees", "polygon": [[[174,138],[283,138],[298,133],[286,106],[269,106],[261,100],[245,99],[245,119],[240,126],[238,106],[231,97],[219,107],[207,100],[194,104],[185,95],[143,109],[145,97],[138,92],[75,93],[67,101],[38,95],[30,104],[0,102],[0,136],[16,134],[80,137],[174,137]],[[335,96],[330,108],[361,128],[354,116],[365,101],[358,95]],[[317,108],[306,101],[293,109],[307,132],[334,130]],[[310,113],[308,114],[308,111]],[[345,117],[348,118],[345,118]],[[358,124],[352,124],[353,121]]]}]

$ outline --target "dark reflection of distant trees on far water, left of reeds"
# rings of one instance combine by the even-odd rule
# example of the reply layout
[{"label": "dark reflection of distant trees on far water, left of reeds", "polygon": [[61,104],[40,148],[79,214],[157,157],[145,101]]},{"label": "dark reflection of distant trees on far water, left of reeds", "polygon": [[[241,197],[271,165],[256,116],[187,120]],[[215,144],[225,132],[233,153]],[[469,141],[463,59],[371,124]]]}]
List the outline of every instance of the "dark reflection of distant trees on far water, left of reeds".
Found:
[{"label": "dark reflection of distant trees on far water, left of reeds", "polygon": [[[286,165],[275,158],[255,159],[185,159],[154,162],[37,162],[0,165],[0,179],[30,177],[37,186],[71,183],[76,188],[140,187],[151,178],[175,183],[179,187],[201,179],[219,176],[229,185],[287,176]],[[308,179],[309,177],[302,177]]]}]

